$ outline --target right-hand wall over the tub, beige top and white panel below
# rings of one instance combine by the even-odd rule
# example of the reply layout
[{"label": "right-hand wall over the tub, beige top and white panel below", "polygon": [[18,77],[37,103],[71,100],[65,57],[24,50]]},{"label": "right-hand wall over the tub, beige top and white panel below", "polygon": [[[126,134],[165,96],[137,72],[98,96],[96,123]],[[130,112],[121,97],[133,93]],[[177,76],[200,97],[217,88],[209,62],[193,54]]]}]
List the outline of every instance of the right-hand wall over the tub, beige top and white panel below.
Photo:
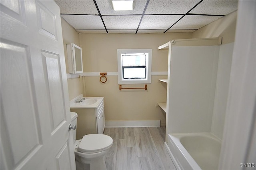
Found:
[{"label": "right-hand wall over the tub, beige top and white panel below", "polygon": [[210,131],[220,139],[222,139],[226,115],[228,85],[236,32],[236,18],[237,11],[232,12],[231,14],[228,14],[192,33],[192,38],[222,37]]}]

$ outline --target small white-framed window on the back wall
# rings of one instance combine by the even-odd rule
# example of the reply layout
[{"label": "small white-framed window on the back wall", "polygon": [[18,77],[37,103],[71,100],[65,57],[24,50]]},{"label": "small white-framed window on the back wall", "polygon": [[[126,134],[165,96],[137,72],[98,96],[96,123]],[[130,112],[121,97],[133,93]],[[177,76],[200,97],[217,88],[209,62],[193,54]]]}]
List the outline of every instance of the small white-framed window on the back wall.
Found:
[{"label": "small white-framed window on the back wall", "polygon": [[152,49],[118,49],[118,84],[151,83]]}]

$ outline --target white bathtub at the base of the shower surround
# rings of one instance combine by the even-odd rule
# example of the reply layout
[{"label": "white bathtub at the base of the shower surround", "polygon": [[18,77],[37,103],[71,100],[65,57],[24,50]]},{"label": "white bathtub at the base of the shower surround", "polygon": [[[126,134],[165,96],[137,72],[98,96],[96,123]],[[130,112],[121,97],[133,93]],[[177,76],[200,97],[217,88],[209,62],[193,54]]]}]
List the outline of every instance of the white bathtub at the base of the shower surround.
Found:
[{"label": "white bathtub at the base of the shower surround", "polygon": [[166,146],[177,169],[218,169],[221,140],[211,133],[169,134]]}]

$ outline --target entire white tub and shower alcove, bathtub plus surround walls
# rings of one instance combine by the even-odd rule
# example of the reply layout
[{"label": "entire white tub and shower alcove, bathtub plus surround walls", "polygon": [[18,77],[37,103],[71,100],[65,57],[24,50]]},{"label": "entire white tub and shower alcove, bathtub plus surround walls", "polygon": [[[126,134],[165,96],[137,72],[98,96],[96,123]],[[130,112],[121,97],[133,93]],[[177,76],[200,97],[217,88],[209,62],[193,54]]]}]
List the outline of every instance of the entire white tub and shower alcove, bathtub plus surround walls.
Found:
[{"label": "entire white tub and shower alcove, bathtub plus surround walls", "polygon": [[[168,43],[165,146],[177,169],[218,167],[233,43],[220,46],[214,44],[213,40],[214,38],[202,38],[172,40]],[[199,139],[203,136],[206,139],[207,135],[212,135],[209,132],[214,136],[207,138],[205,144],[201,143]],[[190,137],[185,143],[184,137],[180,138],[181,140],[173,137],[192,134],[200,137]],[[192,143],[200,143],[200,147],[196,147],[194,156],[190,150]],[[210,146],[211,144],[213,146]],[[215,147],[217,145],[218,147]],[[207,146],[207,149],[204,146]],[[192,150],[195,149],[194,147],[192,146]],[[212,150],[208,150],[211,147]],[[206,150],[208,152],[204,152]],[[212,155],[216,150],[218,152]],[[187,152],[191,152],[192,157],[186,155]],[[198,155],[204,156],[198,157]],[[205,164],[204,158],[209,160],[209,164]]]}]

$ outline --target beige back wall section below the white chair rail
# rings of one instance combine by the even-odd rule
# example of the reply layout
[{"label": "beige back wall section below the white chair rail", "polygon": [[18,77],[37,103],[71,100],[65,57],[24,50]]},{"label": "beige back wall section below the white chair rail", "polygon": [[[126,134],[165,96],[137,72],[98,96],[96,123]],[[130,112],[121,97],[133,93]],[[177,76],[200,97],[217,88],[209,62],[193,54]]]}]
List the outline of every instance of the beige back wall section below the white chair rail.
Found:
[{"label": "beige back wall section below the white chair rail", "polygon": [[[117,76],[108,76],[106,84],[101,84],[98,76],[87,76],[86,95],[104,97],[105,120],[161,120],[163,125],[165,114],[156,104],[166,102],[167,84],[158,81],[166,77],[152,76],[148,90],[120,91]],[[144,87],[144,84],[122,86]]]}]

